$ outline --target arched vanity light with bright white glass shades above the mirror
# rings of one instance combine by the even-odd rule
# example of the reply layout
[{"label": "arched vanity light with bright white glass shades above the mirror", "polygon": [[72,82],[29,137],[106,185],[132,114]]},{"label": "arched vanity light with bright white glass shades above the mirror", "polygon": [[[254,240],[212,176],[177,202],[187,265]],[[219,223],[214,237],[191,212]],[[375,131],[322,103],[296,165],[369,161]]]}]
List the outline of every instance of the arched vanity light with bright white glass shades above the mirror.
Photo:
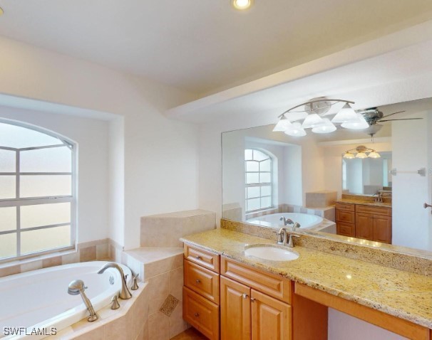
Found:
[{"label": "arched vanity light with bright white glass shades above the mirror", "polygon": [[[329,112],[331,107],[338,103],[344,103],[339,112]],[[294,106],[279,115],[273,131],[282,131],[289,136],[305,136],[304,129],[312,129],[316,134],[328,134],[336,131],[335,124],[341,124],[346,129],[367,129],[366,122],[361,113],[356,112],[351,105],[354,102],[340,99],[327,99],[319,97]],[[296,110],[303,107],[303,110]],[[335,115],[331,120],[327,116]]]}]

